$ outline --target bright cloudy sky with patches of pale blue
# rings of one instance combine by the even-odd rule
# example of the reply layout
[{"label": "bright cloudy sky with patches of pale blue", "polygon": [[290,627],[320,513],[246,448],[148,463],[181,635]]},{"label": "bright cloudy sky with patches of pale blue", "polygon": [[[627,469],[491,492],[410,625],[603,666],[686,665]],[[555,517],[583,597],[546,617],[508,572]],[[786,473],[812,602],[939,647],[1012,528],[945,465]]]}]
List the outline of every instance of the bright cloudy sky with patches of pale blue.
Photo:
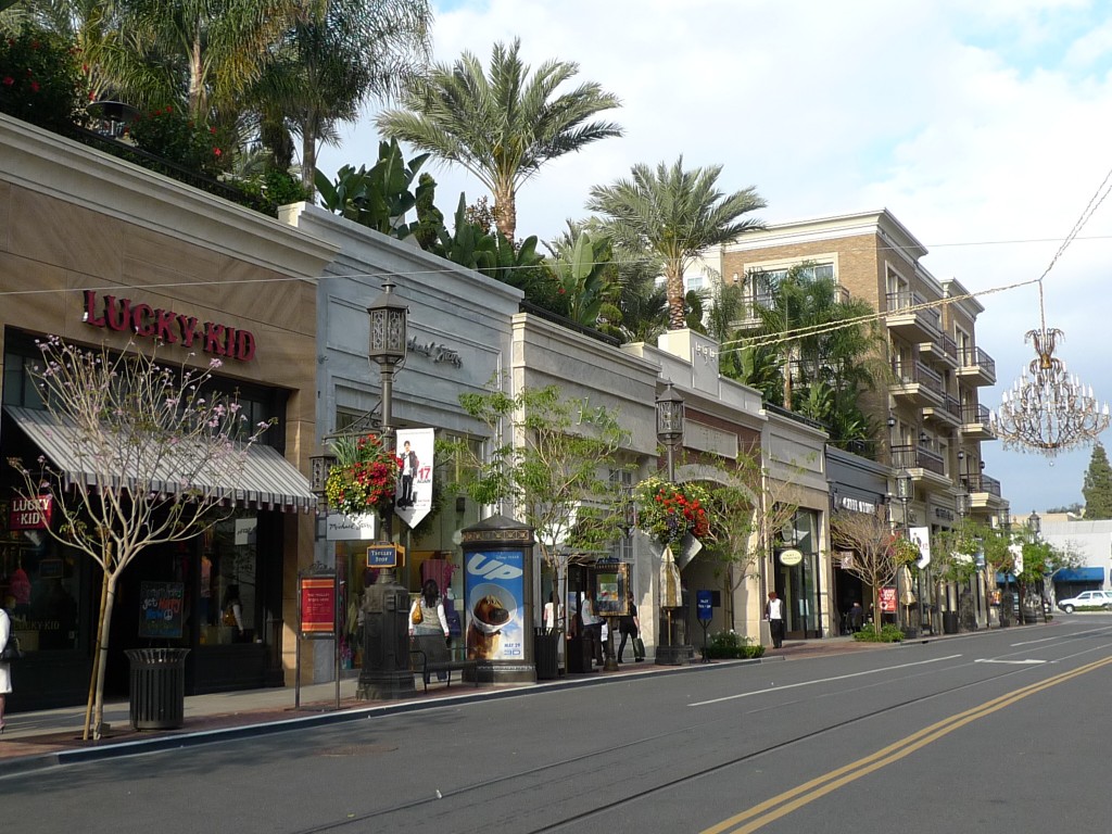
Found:
[{"label": "bright cloudy sky with patches of pale blue", "polygon": [[[930,250],[923,265],[985,294],[977,342],[996,360],[991,409],[1034,357],[1035,285],[1058,355],[1112,397],[1112,2],[1085,0],[434,0],[435,57],[488,63],[522,39],[533,66],[575,61],[622,101],[625,136],[543,169],[518,198],[518,234],[582,218],[590,186],[636,162],[721,163],[726,190],[755,186],[766,222],[887,208]],[[369,118],[326,149],[329,175],[371,163]],[[438,202],[484,193],[438,169]],[[1112,201],[1110,201],[1112,202]],[[1109,328],[1109,330],[1105,330]],[[1108,439],[1104,439],[1108,443]],[[985,444],[985,474],[1012,512],[1082,500],[1090,450],[1059,456]]]}]

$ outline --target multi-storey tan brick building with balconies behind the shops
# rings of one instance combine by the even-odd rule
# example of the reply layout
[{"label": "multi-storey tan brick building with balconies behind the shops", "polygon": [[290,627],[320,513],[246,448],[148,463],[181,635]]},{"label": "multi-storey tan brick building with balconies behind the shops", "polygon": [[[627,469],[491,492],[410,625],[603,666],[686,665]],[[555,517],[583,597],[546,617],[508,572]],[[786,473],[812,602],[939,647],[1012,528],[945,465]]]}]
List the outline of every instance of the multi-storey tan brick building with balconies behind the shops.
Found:
[{"label": "multi-storey tan brick building with balconies behind the shops", "polygon": [[[876,459],[892,468],[892,519],[935,533],[956,526],[965,513],[991,522],[1006,513],[1007,504],[982,456],[982,444],[995,437],[980,391],[996,381],[995,364],[976,340],[984,307],[957,280],[931,275],[921,262],[926,254],[882,209],[771,224],[707,261],[723,280],[743,284],[752,306],[767,301],[768,278],[806,264],[877,310],[891,377],[865,398],[865,410],[882,427]],[[905,519],[895,479],[904,470],[912,478]],[[984,622],[980,590],[976,609]],[[946,610],[957,589],[942,592],[950,599],[933,599],[929,588],[923,593]]]}]

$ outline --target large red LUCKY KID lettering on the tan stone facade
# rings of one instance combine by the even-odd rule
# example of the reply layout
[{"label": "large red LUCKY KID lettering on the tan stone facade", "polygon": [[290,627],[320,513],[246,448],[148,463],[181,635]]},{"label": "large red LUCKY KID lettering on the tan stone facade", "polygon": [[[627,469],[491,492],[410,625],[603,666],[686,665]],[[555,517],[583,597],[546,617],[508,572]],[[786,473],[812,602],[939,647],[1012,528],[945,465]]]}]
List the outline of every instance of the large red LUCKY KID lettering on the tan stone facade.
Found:
[{"label": "large red LUCKY KID lettering on the tan stone facade", "polygon": [[212,356],[224,356],[239,361],[255,358],[255,335],[230,325],[200,321],[196,316],[163,310],[130,298],[103,296],[96,290],[85,291],[85,322],[118,332],[133,332],[146,339],[158,339],[166,345],[180,344]]}]

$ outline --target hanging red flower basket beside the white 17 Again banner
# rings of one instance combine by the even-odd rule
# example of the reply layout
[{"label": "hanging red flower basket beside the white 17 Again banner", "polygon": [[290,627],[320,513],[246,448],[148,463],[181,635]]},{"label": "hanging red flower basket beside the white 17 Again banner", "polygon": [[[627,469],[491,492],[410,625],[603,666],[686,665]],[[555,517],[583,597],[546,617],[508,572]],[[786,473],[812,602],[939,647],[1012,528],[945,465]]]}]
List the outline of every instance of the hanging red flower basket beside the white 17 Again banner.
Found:
[{"label": "hanging red flower basket beside the white 17 Again banner", "polygon": [[386,513],[394,506],[400,466],[378,435],[336,444],[337,463],[328,473],[328,506],[349,516]]}]

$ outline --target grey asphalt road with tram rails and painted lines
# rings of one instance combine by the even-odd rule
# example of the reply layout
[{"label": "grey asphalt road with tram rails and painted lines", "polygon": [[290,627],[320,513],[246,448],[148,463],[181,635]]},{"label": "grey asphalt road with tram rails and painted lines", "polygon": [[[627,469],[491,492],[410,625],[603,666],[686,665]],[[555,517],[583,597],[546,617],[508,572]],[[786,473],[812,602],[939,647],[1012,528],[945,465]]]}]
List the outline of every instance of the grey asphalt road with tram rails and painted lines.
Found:
[{"label": "grey asphalt road with tram rails and painted lines", "polygon": [[1112,616],[1059,616],[17,774],[0,818],[19,834],[1104,832],[1110,692]]}]

